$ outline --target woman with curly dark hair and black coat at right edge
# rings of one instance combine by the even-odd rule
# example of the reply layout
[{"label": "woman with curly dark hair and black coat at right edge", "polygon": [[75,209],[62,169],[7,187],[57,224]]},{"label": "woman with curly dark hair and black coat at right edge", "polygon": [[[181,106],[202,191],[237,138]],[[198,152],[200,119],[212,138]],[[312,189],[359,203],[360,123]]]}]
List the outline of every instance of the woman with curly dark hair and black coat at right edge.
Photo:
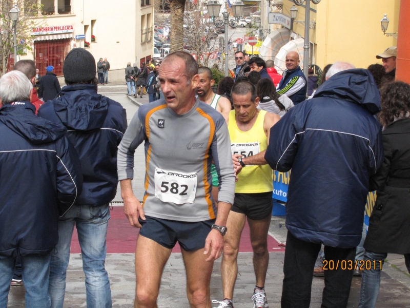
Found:
[{"label": "woman with curly dark hair and black coat at right edge", "polygon": [[397,81],[383,86],[381,106],[384,161],[370,179],[369,190],[377,189],[377,200],[363,245],[367,268],[360,308],[376,305],[387,253],[404,255],[410,273],[410,85]]}]

